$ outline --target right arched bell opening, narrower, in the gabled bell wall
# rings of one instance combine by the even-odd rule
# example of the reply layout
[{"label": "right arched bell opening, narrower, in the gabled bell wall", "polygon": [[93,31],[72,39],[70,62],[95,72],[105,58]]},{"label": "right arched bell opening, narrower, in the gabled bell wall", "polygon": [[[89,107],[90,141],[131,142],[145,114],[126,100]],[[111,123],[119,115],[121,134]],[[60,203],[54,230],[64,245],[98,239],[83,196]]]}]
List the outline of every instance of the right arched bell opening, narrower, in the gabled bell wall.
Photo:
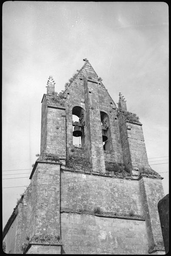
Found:
[{"label": "right arched bell opening, narrower, in the gabled bell wall", "polygon": [[104,150],[111,151],[111,134],[109,126],[109,116],[105,112],[100,112],[101,115],[101,130],[102,130],[102,140]]}]

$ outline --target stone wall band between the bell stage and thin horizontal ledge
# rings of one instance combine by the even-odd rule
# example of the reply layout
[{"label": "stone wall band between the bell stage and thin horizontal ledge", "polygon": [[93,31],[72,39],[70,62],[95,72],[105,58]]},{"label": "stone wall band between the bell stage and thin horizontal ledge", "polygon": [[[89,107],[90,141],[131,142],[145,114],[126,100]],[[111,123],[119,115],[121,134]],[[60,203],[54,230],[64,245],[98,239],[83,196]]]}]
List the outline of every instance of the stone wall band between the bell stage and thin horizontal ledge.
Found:
[{"label": "stone wall band between the bell stage and thin horizontal ledge", "polygon": [[138,181],[61,173],[61,210],[93,212],[95,207],[113,215],[143,216]]}]

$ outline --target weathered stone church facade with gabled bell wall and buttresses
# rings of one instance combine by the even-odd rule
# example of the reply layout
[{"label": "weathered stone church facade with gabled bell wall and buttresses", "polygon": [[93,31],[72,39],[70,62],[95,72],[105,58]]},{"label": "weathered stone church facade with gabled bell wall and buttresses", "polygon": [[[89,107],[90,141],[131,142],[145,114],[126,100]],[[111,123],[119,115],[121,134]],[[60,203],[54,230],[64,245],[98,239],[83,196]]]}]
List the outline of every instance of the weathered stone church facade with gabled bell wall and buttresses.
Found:
[{"label": "weathered stone church facade with gabled bell wall and buttresses", "polygon": [[40,156],[3,230],[6,253],[165,254],[162,177],[139,118],[101,80],[87,59],[62,93],[49,77]]}]

